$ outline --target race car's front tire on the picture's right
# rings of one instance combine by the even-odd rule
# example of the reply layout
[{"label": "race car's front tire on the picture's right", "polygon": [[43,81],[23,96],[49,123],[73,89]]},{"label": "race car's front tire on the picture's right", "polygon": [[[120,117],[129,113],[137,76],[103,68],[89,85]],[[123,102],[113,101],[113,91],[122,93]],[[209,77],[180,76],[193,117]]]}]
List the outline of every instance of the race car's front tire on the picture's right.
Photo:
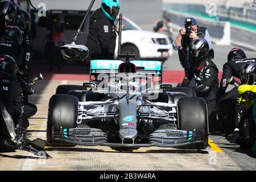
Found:
[{"label": "race car's front tire on the picture's right", "polygon": [[184,146],[185,149],[202,149],[208,146],[207,103],[201,97],[184,97],[177,102],[178,128],[187,131],[205,131],[205,142]]}]

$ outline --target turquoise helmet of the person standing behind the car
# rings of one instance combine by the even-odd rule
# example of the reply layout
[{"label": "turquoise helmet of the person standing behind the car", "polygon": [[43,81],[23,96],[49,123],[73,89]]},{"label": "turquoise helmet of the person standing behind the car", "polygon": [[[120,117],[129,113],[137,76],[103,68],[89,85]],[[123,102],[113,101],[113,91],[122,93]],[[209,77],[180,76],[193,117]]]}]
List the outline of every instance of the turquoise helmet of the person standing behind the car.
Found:
[{"label": "turquoise helmet of the person standing behind the car", "polygon": [[108,19],[115,20],[119,13],[120,3],[118,0],[103,0],[101,9]]}]

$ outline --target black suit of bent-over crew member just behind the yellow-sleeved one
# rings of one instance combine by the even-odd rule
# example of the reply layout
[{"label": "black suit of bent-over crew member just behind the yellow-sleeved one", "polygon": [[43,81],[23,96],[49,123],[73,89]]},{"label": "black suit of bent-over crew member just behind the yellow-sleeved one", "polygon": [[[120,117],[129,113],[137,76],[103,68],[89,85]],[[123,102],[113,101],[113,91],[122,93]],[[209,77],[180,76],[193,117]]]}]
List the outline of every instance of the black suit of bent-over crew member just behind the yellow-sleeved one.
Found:
[{"label": "black suit of bent-over crew member just behind the yellow-sleeved one", "polygon": [[[238,121],[236,113],[241,114],[242,110],[237,110],[237,88],[226,92],[228,80],[234,76],[240,78],[240,72],[246,63],[256,63],[256,58],[233,59],[223,65],[223,73],[220,82],[220,88],[217,94],[218,121],[221,124],[222,132],[226,134],[233,133],[235,123]],[[235,122],[234,122],[235,121]]]}]

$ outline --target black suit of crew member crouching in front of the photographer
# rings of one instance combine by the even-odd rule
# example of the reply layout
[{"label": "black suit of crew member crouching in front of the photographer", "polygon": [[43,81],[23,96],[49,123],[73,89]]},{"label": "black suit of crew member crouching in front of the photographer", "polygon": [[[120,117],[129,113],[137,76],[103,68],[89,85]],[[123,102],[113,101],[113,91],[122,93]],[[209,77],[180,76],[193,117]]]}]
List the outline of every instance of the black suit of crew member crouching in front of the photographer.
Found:
[{"label": "black suit of crew member crouching in front of the photographer", "polygon": [[[192,70],[192,69],[191,69]],[[196,96],[203,97],[207,102],[209,131],[217,131],[219,126],[216,121],[218,92],[218,68],[209,58],[196,65],[187,75],[188,80],[194,77],[197,83]],[[189,82],[187,82],[189,84]],[[184,85],[186,86],[186,85]]]}]

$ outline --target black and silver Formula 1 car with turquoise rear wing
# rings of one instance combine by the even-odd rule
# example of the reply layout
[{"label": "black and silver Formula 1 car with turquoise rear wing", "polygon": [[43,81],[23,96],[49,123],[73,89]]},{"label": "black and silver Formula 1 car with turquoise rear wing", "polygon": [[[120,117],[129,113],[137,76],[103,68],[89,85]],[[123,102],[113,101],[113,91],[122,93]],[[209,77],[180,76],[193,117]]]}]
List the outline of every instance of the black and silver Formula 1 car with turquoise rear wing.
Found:
[{"label": "black and silver Formula 1 car with turquoise rear wing", "polygon": [[59,85],[49,100],[51,146],[201,149],[208,146],[208,113],[192,88],[162,84],[160,61],[91,60],[90,82]]}]

